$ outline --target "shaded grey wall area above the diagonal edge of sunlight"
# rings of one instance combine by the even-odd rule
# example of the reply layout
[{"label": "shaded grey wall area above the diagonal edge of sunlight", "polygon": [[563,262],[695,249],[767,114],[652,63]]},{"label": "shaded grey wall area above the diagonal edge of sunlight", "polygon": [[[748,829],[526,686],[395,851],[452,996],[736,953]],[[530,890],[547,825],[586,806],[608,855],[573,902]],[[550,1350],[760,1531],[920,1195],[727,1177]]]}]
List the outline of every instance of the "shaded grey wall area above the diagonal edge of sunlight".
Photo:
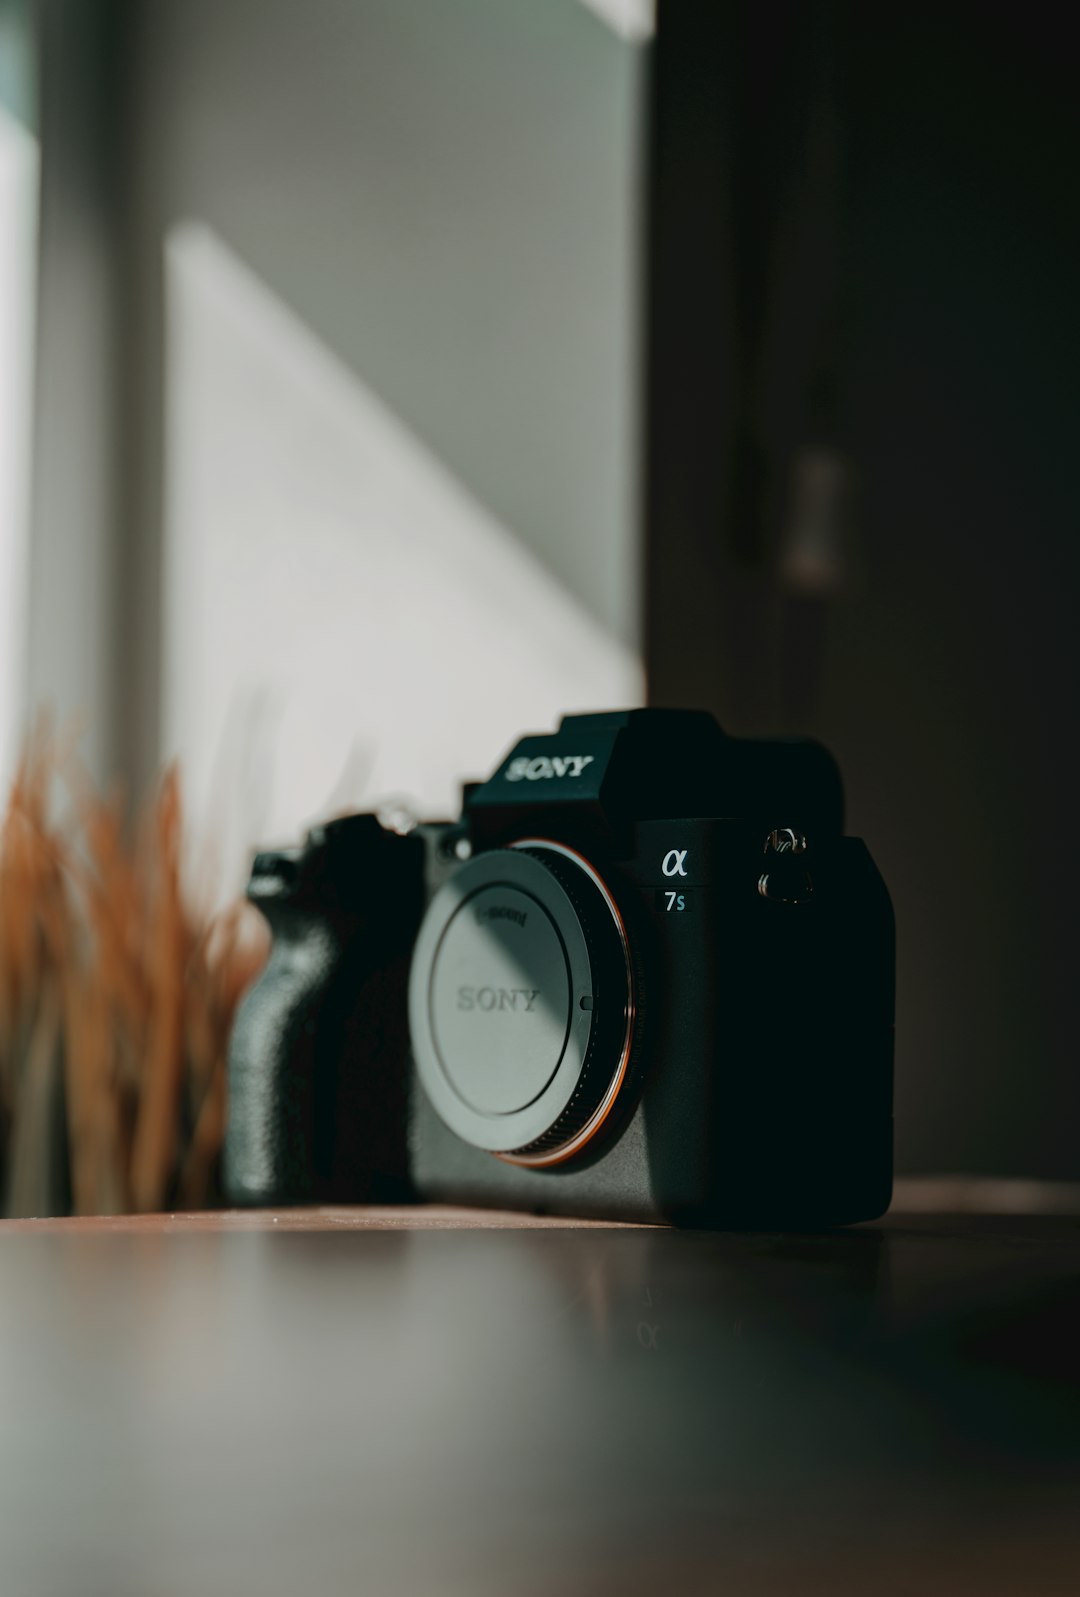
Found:
[{"label": "shaded grey wall area above the diagonal edge of sunlight", "polygon": [[212,227],[637,645],[642,45],[578,0],[136,13],[139,276]]}]

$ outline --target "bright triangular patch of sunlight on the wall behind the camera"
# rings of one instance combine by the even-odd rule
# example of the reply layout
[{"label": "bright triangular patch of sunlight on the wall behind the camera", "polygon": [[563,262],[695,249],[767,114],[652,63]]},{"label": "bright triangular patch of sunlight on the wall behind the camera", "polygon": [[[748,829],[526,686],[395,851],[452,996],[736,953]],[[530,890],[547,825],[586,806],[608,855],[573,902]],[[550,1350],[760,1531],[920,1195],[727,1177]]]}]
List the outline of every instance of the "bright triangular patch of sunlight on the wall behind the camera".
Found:
[{"label": "bright triangular patch of sunlight on the wall behind the camera", "polygon": [[519,731],[641,703],[641,661],[190,222],[165,391],[163,752],[230,875],[328,810],[455,813]]}]

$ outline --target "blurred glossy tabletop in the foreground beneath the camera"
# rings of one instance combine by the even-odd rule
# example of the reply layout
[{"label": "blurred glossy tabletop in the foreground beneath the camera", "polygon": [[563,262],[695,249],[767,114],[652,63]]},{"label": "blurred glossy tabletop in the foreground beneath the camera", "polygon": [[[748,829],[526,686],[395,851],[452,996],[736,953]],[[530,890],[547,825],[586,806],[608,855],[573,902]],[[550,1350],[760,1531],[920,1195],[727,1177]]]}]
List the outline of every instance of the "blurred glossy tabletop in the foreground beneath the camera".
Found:
[{"label": "blurred glossy tabletop in the foreground beneath the camera", "polygon": [[1080,1591],[1080,1220],[0,1226],[0,1592]]}]

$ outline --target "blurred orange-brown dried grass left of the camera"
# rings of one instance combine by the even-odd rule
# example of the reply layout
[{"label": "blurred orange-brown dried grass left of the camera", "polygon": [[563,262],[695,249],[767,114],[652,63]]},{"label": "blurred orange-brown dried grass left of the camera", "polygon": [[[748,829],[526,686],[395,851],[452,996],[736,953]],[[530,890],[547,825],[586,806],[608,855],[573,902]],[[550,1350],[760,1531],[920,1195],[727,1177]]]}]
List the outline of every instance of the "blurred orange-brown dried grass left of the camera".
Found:
[{"label": "blurred orange-brown dried grass left of the camera", "polygon": [[42,727],[0,822],[0,1201],[6,1214],[204,1207],[225,1052],[265,958],[246,905],[185,890],[176,770],[137,824]]}]

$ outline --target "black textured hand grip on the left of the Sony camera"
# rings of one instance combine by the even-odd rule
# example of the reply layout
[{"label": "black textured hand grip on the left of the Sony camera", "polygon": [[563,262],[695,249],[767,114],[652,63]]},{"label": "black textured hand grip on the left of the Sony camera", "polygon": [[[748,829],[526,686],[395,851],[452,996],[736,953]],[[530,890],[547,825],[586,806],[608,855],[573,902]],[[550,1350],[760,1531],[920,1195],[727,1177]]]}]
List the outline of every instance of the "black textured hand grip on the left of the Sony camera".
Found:
[{"label": "black textured hand grip on the left of the Sony camera", "polygon": [[232,1203],[409,1196],[404,982],[423,862],[420,835],[374,814],[256,854],[248,898],[273,944],[228,1049]]}]

